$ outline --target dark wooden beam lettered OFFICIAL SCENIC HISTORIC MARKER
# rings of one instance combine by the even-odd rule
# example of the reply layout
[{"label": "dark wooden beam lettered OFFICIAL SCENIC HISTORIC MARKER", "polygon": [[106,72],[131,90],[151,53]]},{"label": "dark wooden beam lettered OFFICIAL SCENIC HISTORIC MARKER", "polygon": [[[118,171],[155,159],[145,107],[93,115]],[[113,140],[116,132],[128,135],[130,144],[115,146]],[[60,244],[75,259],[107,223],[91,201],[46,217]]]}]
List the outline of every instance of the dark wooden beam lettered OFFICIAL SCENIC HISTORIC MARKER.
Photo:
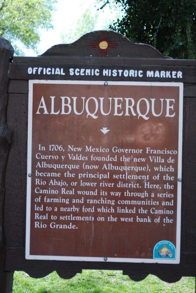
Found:
[{"label": "dark wooden beam lettered OFFICIAL SCENIC HISTORIC MARKER", "polygon": [[[194,83],[196,79],[196,66],[163,66],[163,65],[128,65],[128,64],[118,64],[118,65],[108,65],[107,62],[104,64],[99,64],[98,66],[91,65],[91,64],[81,64],[74,63],[74,64],[44,64],[44,63],[13,63],[10,65],[10,79],[54,79],[54,80],[113,80],[113,81],[178,81],[184,83]],[[35,74],[31,73],[28,74],[28,68],[36,68]],[[40,73],[38,72],[38,68],[40,69]],[[47,70],[49,68],[50,74],[44,73],[44,68]],[[63,72],[63,74],[55,74],[57,72]],[[74,70],[74,75],[70,74],[70,69]],[[75,74],[75,69],[79,69],[77,71],[77,75]],[[80,74],[80,70],[84,69],[85,71],[82,72],[83,75]],[[98,69],[99,75],[96,76],[95,74],[86,75],[86,69]],[[52,70],[54,74],[52,74]],[[111,72],[109,72],[111,70]],[[113,76],[113,70],[116,70],[116,76]],[[130,70],[137,70],[137,74],[134,76],[129,76]],[[126,74],[124,72],[126,71]],[[142,76],[139,76],[138,72],[142,71]],[[153,77],[148,75],[147,71],[153,71]],[[158,71],[159,76],[156,77],[155,72]],[[165,71],[165,76],[168,77],[161,77],[161,71]],[[182,72],[182,78],[177,77],[178,72]],[[128,76],[127,76],[128,72]],[[168,72],[168,75],[166,75]],[[172,76],[172,72],[175,72],[174,77]]]}]

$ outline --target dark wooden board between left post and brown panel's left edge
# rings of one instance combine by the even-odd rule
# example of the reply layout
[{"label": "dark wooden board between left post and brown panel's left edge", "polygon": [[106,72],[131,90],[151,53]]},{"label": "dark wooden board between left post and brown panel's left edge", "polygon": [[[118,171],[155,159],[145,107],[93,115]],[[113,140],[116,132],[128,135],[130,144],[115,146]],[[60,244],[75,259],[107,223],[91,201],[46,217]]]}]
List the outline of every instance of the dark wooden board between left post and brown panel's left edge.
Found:
[{"label": "dark wooden board between left post and brown panel's left edge", "polygon": [[25,243],[27,94],[9,94],[7,118],[12,130],[12,144],[6,171],[4,230],[6,246],[20,247]]}]

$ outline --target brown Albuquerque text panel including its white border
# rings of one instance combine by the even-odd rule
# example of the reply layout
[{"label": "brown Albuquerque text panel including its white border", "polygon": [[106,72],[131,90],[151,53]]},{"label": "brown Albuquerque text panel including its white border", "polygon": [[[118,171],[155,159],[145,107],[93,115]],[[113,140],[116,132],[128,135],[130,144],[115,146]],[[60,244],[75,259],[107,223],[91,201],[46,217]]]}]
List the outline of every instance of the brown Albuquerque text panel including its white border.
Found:
[{"label": "brown Albuquerque text panel including its white border", "polygon": [[29,81],[26,258],[180,262],[182,83]]}]

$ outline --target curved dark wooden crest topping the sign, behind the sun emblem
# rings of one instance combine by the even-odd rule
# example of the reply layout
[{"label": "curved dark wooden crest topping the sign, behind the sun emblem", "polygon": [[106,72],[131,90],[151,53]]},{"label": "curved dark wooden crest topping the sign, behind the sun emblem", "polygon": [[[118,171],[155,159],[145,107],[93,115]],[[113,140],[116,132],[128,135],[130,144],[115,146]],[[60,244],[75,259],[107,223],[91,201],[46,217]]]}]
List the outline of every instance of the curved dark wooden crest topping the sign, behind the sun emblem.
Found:
[{"label": "curved dark wooden crest topping the sign, behind the sun emblem", "polygon": [[108,50],[105,52],[105,58],[129,57],[130,55],[132,58],[170,58],[163,56],[158,50],[150,45],[135,44],[125,36],[112,30],[97,30],[87,33],[72,44],[55,45],[41,56],[92,56],[102,58],[102,51],[104,50],[99,49],[98,43],[104,40],[107,40],[108,42]]}]

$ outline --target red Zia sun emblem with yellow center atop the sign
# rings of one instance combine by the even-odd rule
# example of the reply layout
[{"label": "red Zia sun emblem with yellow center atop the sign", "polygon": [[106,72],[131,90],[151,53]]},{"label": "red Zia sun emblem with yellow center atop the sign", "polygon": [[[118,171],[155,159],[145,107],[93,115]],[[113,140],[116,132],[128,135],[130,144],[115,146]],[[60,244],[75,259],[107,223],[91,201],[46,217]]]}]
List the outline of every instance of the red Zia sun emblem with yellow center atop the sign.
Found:
[{"label": "red Zia sun emblem with yellow center atop the sign", "polygon": [[105,57],[108,55],[109,49],[115,49],[117,43],[108,41],[108,34],[103,32],[99,35],[99,41],[91,41],[89,46],[92,49],[99,49],[99,56]]}]

